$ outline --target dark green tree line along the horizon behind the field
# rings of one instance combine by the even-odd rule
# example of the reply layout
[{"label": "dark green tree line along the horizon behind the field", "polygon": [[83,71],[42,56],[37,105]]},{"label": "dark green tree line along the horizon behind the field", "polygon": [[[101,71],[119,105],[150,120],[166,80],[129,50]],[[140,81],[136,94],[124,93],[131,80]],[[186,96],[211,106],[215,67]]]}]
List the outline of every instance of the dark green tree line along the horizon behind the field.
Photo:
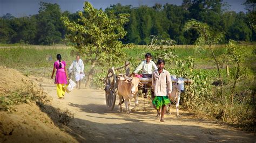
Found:
[{"label": "dark green tree line along the horizon behind the field", "polygon": [[[65,26],[60,17],[66,16],[70,21],[77,21],[78,12],[62,12],[58,4],[39,3],[38,14],[16,18],[10,13],[0,17],[0,43],[52,45],[63,43]],[[129,13],[130,21],[125,25],[124,44],[147,45],[150,35],[161,35],[173,39],[177,44],[192,44],[198,37],[196,31],[183,31],[188,20],[196,19],[208,24],[216,32],[224,33],[222,42],[229,39],[236,41],[255,41],[255,2],[247,0],[247,13],[228,11],[228,5],[221,0],[202,1],[184,0],[183,4],[155,4],[152,7],[141,5],[115,4],[105,9],[108,15]]]}]

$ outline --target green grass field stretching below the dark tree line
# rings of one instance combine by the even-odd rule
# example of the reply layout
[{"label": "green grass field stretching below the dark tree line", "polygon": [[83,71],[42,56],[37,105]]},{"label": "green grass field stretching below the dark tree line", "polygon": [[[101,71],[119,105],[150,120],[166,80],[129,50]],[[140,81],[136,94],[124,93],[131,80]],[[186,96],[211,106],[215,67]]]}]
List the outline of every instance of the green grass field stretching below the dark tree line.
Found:
[{"label": "green grass field stretching below the dark tree line", "polygon": [[[1,48],[2,47],[2,48]],[[205,51],[197,52],[196,48],[193,45],[186,46],[176,46],[174,54],[178,56],[177,60],[184,60],[191,56],[195,61],[195,69],[207,69],[213,70],[215,69],[214,60],[212,58],[211,52],[206,49]],[[248,66],[251,67],[252,70],[255,71],[255,55],[253,55],[253,50],[256,46],[248,45],[246,50],[246,54],[250,55],[247,57]],[[49,72],[46,70],[52,68],[53,62],[56,60],[56,54],[61,54],[63,60],[69,65],[72,60],[75,59],[74,55],[70,54],[71,48],[66,47],[64,45],[57,46],[38,46],[38,45],[0,45],[0,65],[6,66],[8,68],[15,68],[21,70],[24,74],[33,74],[38,76],[49,77]],[[140,61],[144,60],[144,55],[147,52],[154,53],[152,49],[146,46],[134,46],[133,48],[124,48],[124,52],[126,53],[126,59],[131,62],[131,69],[133,70],[140,63]],[[215,55],[218,57],[221,54],[226,53],[226,47],[218,47],[214,49]],[[49,56],[52,57],[52,60],[46,60]],[[154,56],[154,55],[153,55]],[[83,59],[83,58],[82,58]],[[157,59],[153,57],[153,59]],[[124,62],[123,61],[123,62]],[[122,61],[120,61],[122,62]],[[155,61],[156,62],[156,61]],[[176,68],[173,63],[167,63],[167,69]],[[89,70],[90,63],[85,63],[85,70]],[[232,67],[232,65],[229,65]],[[102,68],[102,67],[100,67]],[[110,67],[104,67],[110,68]],[[223,67],[225,68],[225,67]],[[44,69],[46,73],[42,73]],[[45,70],[46,69],[46,70]]]}]

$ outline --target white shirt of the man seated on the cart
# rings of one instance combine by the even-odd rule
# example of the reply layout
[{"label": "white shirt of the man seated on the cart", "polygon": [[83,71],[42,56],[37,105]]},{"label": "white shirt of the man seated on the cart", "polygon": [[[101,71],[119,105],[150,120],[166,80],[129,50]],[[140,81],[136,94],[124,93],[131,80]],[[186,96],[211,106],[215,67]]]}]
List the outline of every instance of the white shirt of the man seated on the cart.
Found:
[{"label": "white shirt of the man seated on the cart", "polygon": [[138,73],[139,70],[142,69],[142,74],[152,74],[154,70],[157,70],[157,65],[150,60],[149,63],[147,63],[146,60],[142,61],[140,65],[136,68],[134,73]]}]

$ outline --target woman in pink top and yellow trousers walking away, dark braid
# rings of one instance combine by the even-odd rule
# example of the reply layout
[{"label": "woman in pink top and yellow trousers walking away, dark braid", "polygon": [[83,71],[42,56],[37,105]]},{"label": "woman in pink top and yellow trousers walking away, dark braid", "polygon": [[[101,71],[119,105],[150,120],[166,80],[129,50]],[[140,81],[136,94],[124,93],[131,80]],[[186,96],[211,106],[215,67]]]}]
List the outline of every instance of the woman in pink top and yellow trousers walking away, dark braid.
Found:
[{"label": "woman in pink top and yellow trousers walking away, dark braid", "polygon": [[66,62],[62,61],[62,56],[60,54],[57,54],[57,61],[53,65],[51,78],[53,78],[55,70],[57,71],[56,71],[54,83],[57,84],[57,95],[59,99],[64,99],[64,95],[65,95],[64,84],[68,83],[67,79],[69,80],[69,77],[66,71]]}]

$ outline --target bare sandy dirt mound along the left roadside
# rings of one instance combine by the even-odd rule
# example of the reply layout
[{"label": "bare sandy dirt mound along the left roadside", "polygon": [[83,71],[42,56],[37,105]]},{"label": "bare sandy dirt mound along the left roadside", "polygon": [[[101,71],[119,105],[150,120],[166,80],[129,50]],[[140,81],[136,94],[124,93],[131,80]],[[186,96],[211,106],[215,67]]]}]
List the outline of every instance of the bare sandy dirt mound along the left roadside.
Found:
[{"label": "bare sandy dirt mound along the left roadside", "polygon": [[[15,69],[0,67],[0,104],[3,104],[4,99],[1,96],[8,97],[13,91],[32,91],[34,94],[42,91],[40,81],[41,78],[30,79]],[[9,111],[0,111],[0,142],[77,142],[59,128],[57,109],[51,104],[38,105],[27,101],[11,105]]]}]

